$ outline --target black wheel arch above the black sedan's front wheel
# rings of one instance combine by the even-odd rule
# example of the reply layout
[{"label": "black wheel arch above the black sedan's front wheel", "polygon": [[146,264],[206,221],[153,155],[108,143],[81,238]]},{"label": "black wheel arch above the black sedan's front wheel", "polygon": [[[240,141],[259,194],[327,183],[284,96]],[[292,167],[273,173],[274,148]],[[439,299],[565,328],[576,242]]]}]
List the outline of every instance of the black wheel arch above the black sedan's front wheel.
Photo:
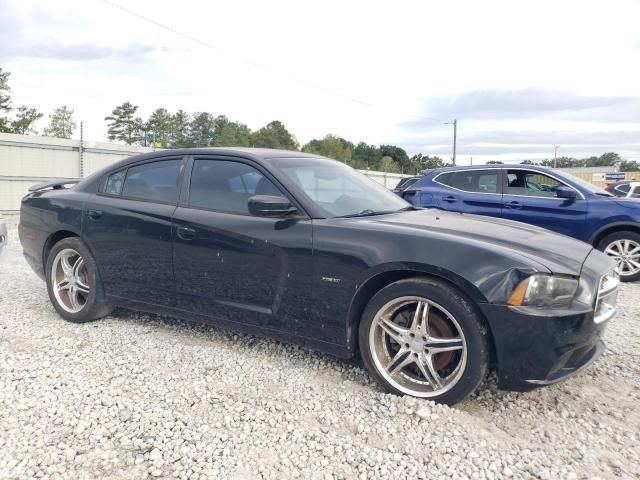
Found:
[{"label": "black wheel arch above the black sedan's front wheel", "polygon": [[442,281],[448,286],[454,288],[460,295],[469,299],[477,315],[487,327],[490,337],[491,361],[494,361],[495,340],[491,330],[491,325],[478,306],[478,303],[485,303],[487,299],[475,285],[459,275],[443,269],[431,268],[427,265],[413,265],[410,268],[390,268],[388,270],[377,272],[362,282],[351,301],[348,313],[348,342],[349,349],[352,352],[355,352],[358,349],[357,340],[360,320],[369,300],[371,300],[376,293],[387,285],[407,278],[433,278],[435,280]]}]

